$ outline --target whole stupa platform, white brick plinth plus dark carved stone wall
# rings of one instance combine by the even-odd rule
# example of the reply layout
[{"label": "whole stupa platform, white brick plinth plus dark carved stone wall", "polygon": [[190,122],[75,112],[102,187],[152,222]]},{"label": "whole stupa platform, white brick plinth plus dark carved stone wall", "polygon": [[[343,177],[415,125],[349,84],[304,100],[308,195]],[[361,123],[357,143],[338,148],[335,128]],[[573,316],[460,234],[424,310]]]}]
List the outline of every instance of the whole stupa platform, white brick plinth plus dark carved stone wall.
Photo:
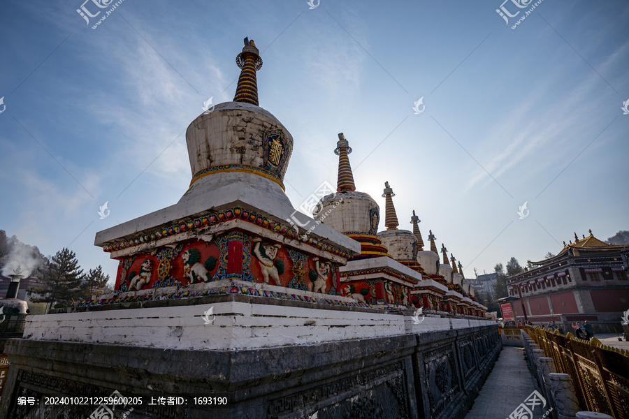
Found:
[{"label": "whole stupa platform, white brick plinth plus dark carved stone wall", "polygon": [[[0,418],[89,418],[96,406],[45,406],[45,397],[107,397],[118,391],[124,397],[187,397],[185,405],[133,406],[126,416],[129,419],[458,419],[465,416],[501,348],[497,326],[486,321],[426,317],[415,325],[410,314],[383,314],[360,307],[331,309],[245,295],[203,297],[207,298],[210,300],[203,304],[190,301],[184,306],[161,307],[159,315],[153,315],[150,308],[99,309],[47,315],[45,321],[27,324],[25,336],[30,338],[12,339],[6,346],[11,366]],[[218,324],[211,328],[191,328],[186,319],[200,321],[198,315],[207,309],[206,303],[229,307],[229,314],[223,313],[222,321],[217,316]],[[305,304],[310,308],[305,309]],[[168,314],[174,311],[168,309],[180,310],[177,322],[184,334],[191,331],[188,340],[194,344],[166,348],[174,338],[159,335],[159,322],[152,324],[157,330],[152,346],[147,344],[150,323],[146,322],[151,318],[175,322],[175,316]],[[294,309],[308,314],[296,319]],[[85,319],[85,328],[100,323],[101,336],[96,335],[96,328],[92,332],[62,331],[63,323],[55,331],[55,321],[78,318]],[[233,318],[243,327],[234,325]],[[372,323],[366,323],[369,318]],[[114,337],[114,328],[102,328],[108,321],[127,322],[126,337]],[[242,347],[247,342],[243,335],[244,340],[231,342],[240,346],[238,349],[227,348],[220,330],[238,332],[240,328],[238,333],[250,330],[252,334],[251,321],[256,321],[257,327],[273,325],[266,329],[275,330],[275,335],[250,339],[265,341],[251,348]],[[316,324],[307,323],[311,321]],[[76,330],[80,325],[72,327]],[[171,328],[175,335],[180,330],[168,322],[163,327]],[[277,332],[284,327],[290,332]],[[47,337],[36,335],[45,328]],[[310,337],[306,338],[309,328]],[[369,336],[360,328],[369,330]],[[337,329],[347,332],[325,331]],[[138,332],[136,343],[134,330]],[[293,341],[288,339],[291,335]],[[216,344],[213,338],[222,343]],[[96,340],[100,343],[94,343]],[[201,348],[203,344],[215,349]],[[226,397],[226,406],[194,404],[194,397],[210,396]],[[34,397],[36,405],[19,405],[18,397]],[[117,409],[117,414],[121,413]]]}]

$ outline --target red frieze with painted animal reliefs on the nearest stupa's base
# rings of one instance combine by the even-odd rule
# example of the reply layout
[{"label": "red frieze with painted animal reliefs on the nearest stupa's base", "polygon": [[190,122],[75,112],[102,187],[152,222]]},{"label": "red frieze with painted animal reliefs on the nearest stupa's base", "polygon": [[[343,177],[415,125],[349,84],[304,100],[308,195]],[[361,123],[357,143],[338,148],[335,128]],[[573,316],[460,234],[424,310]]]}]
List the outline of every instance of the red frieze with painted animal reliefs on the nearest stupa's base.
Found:
[{"label": "red frieze with painted animal reliefs on the nearest stupa's base", "polygon": [[120,260],[117,291],[238,279],[336,295],[338,265],[239,230]]}]

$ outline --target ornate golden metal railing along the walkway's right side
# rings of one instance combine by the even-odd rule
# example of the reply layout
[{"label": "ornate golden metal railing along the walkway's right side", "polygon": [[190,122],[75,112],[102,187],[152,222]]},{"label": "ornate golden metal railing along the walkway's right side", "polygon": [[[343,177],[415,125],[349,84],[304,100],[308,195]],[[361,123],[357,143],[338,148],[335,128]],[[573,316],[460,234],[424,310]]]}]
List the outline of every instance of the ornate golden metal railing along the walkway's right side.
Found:
[{"label": "ornate golden metal railing along the walkway's right side", "polygon": [[577,339],[531,326],[526,332],[553,358],[557,372],[569,374],[583,411],[629,419],[629,351],[598,339]]}]

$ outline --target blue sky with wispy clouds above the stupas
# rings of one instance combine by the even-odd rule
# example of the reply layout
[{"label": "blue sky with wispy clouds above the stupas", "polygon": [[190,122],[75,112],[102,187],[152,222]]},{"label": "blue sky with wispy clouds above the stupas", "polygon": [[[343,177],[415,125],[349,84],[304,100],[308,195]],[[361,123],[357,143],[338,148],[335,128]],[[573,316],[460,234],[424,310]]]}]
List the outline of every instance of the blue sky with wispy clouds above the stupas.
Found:
[{"label": "blue sky with wispy clouds above the stupas", "polygon": [[94,234],[186,191],[185,129],[231,101],[248,36],[260,105],[294,137],[295,207],[335,184],[343,132],[357,189],[384,210],[389,181],[400,228],[415,210],[466,277],[629,229],[629,4],[544,0],[516,29],[528,8],[504,4],[509,25],[500,0],[124,0],[92,29],[82,0],[2,1],[0,228],[113,278]]}]

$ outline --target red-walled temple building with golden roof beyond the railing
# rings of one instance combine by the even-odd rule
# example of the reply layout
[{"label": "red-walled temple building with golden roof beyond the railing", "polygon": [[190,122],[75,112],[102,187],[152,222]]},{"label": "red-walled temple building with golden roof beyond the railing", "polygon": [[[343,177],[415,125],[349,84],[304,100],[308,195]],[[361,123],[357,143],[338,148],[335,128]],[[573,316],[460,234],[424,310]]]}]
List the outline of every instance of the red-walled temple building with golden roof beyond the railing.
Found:
[{"label": "red-walled temple building with golden roof beyond the railing", "polygon": [[[531,262],[534,269],[507,279],[510,296],[522,297],[528,320],[556,321],[564,332],[577,321],[589,321],[595,332],[621,330],[629,309],[629,245],[612,245],[592,235],[565,244],[557,256]],[[523,318],[521,304],[513,304]],[[561,323],[561,324],[560,324]]]}]

